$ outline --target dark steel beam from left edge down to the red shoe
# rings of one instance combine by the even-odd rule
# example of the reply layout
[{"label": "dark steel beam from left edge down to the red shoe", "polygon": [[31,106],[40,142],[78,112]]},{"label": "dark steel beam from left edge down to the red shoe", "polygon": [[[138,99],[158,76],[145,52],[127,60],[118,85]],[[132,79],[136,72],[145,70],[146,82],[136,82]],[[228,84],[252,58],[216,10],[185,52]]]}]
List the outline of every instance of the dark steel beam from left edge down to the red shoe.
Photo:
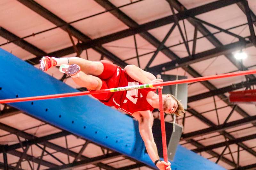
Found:
[{"label": "dark steel beam from left edge down to the red shoe", "polygon": [[[14,35],[13,33],[9,32],[9,31],[7,31],[3,27],[0,27],[0,36],[5,38],[8,41],[13,41],[13,40],[20,39],[20,37]],[[25,40],[14,41],[13,43],[15,45],[19,46],[20,48],[23,48],[26,51],[28,51],[29,53],[34,54],[36,56],[44,56],[44,55],[47,54],[43,50],[37,48],[36,46],[28,43]]]}]

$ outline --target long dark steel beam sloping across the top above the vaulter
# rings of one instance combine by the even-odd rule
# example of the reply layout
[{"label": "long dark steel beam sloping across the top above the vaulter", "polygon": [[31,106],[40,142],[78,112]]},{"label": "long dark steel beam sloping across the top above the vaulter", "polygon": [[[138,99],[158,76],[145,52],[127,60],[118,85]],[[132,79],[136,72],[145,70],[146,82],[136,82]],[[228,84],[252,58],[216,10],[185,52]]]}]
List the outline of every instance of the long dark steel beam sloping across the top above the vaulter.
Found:
[{"label": "long dark steel beam sloping across the top above the vaulter", "polygon": [[[27,0],[19,0],[19,1],[20,2],[24,1],[24,3],[27,2]],[[228,5],[231,5],[231,4],[235,4],[235,3],[238,3],[240,1],[242,1],[242,0],[225,0],[225,1],[219,0],[219,1],[215,1],[215,2],[212,2],[212,3],[209,3],[209,4],[205,4],[205,5],[202,5],[202,6],[199,6],[199,7],[196,7],[196,8],[178,13],[177,17],[178,17],[179,20],[180,19],[186,19],[186,18],[189,17],[189,15],[190,16],[200,15],[202,13],[209,12],[209,11],[212,11],[212,10],[215,10],[215,9],[218,9],[218,8],[221,8],[221,7],[225,7],[225,6],[228,6]],[[113,11],[115,11],[115,10],[113,10]],[[118,40],[118,39],[121,39],[121,38],[125,38],[125,37],[128,37],[128,36],[136,34],[136,33],[142,33],[142,32],[148,31],[150,29],[154,29],[154,28],[157,28],[157,27],[160,27],[160,26],[171,24],[171,23],[174,23],[173,15],[167,16],[167,17],[164,17],[164,18],[160,18],[160,19],[157,19],[157,20],[145,23],[145,24],[142,24],[142,25],[140,25],[136,28],[129,28],[129,29],[119,31],[119,32],[116,32],[116,33],[112,33],[112,34],[109,34],[109,35],[106,35],[106,36],[103,36],[103,37],[100,37],[100,38],[97,38],[97,39],[94,39],[94,40],[91,40],[91,41],[83,42],[81,44],[78,44],[77,48],[87,49],[87,48],[91,48],[91,47],[95,47],[95,46],[100,46],[102,44],[105,44],[105,43],[108,43],[108,42],[111,42],[111,41],[115,41],[115,40]],[[61,49],[61,50],[58,50],[58,51],[55,51],[55,52],[52,52],[49,55],[64,56],[64,55],[68,55],[68,54],[72,54],[72,53],[74,53],[73,46],[68,47],[68,48],[64,48],[64,49]],[[38,57],[36,57],[34,59],[30,59],[30,61],[32,61],[33,63],[38,63],[39,60],[40,60],[40,58],[38,58]]]}]

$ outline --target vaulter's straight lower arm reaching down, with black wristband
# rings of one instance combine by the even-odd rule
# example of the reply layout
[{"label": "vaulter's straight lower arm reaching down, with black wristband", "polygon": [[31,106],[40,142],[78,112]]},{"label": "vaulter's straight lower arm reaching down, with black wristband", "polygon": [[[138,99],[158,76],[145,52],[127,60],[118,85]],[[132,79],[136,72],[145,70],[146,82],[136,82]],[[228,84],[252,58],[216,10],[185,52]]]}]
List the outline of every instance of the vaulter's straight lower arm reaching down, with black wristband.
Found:
[{"label": "vaulter's straight lower arm reaching down, with black wristband", "polygon": [[[145,147],[147,149],[150,159],[153,162],[155,162],[157,159],[159,159],[159,156],[157,153],[157,147],[152,133],[152,126],[154,121],[153,114],[149,110],[147,110],[135,112],[132,115],[139,121],[140,136],[142,137],[145,143]],[[168,166],[166,169],[170,169],[169,162],[157,162],[156,166],[161,170],[164,170],[164,166]]]}]

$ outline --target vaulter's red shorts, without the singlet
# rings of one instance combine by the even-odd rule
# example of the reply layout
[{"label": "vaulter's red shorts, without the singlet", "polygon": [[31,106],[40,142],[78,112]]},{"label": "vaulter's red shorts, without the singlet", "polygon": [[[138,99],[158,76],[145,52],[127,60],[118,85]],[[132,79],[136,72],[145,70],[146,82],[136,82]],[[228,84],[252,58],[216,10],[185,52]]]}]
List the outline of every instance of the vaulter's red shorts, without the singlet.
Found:
[{"label": "vaulter's red shorts, without the singlet", "polygon": [[[100,60],[100,63],[103,64],[103,72],[97,76],[102,81],[102,86],[100,89],[108,89],[108,88],[114,88],[117,87],[119,79],[117,78],[117,68],[115,64],[107,61],[107,60]],[[108,101],[114,93],[108,92],[108,93],[101,93],[101,94],[92,94],[93,97],[99,99]]]}]

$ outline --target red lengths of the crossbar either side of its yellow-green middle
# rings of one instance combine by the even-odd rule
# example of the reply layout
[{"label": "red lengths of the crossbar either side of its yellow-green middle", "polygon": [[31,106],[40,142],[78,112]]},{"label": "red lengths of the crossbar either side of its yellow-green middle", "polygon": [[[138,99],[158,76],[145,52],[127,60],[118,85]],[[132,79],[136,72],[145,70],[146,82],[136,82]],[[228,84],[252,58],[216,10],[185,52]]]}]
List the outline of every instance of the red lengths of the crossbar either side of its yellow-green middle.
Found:
[{"label": "red lengths of the crossbar either side of its yellow-green middle", "polygon": [[[188,79],[175,80],[175,81],[166,81],[163,83],[153,84],[153,87],[165,86],[165,85],[175,85],[175,84],[182,84],[182,83],[192,83],[192,82],[206,81],[206,80],[212,80],[212,79],[218,79],[218,78],[243,76],[243,75],[248,75],[248,74],[256,74],[256,70],[240,71],[240,72],[235,72],[235,73],[227,73],[227,74],[205,76],[205,77],[198,77],[198,78],[188,78]],[[110,89],[96,90],[96,91],[91,91],[91,92],[73,92],[73,93],[53,94],[53,95],[45,95],[45,96],[25,97],[25,98],[17,98],[17,99],[4,99],[4,100],[0,100],[0,103],[14,103],[14,102],[21,102],[21,101],[56,99],[56,98],[63,98],[63,97],[99,94],[99,93],[105,93],[105,92],[110,92]]]}]

